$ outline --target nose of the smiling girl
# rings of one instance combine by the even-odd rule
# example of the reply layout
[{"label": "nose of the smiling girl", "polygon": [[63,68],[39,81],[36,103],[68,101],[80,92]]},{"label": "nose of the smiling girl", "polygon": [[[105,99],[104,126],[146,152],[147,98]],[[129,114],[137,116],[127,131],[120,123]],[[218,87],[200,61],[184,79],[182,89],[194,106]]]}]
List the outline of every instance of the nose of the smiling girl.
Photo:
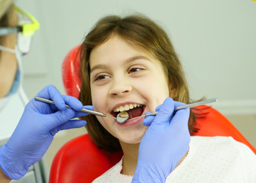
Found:
[{"label": "nose of the smiling girl", "polygon": [[112,96],[123,96],[130,93],[132,86],[130,82],[125,79],[113,79],[109,93]]}]

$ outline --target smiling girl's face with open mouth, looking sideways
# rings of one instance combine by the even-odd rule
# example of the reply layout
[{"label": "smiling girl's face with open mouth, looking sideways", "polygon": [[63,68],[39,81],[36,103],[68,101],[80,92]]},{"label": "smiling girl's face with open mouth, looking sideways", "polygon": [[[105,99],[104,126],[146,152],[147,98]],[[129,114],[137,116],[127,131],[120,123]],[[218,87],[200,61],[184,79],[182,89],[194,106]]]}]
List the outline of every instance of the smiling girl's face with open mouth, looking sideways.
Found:
[{"label": "smiling girl's face with open mouth, looking sideways", "polygon": [[[115,35],[95,47],[89,64],[95,111],[115,116],[115,111],[128,110],[128,114],[136,117],[154,111],[169,97],[160,61],[121,37]],[[142,124],[143,117],[123,124],[109,117],[97,118],[122,143],[139,143],[147,130]]]}]

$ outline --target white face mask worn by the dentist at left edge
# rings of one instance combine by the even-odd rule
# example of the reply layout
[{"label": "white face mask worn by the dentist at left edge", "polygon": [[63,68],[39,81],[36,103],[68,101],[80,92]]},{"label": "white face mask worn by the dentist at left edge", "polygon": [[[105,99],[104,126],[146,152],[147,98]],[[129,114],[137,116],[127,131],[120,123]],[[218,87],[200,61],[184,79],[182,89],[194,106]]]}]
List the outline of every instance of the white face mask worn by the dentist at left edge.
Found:
[{"label": "white face mask worn by the dentist at left edge", "polygon": [[22,67],[21,67],[21,52],[18,50],[17,47],[15,47],[14,49],[10,49],[10,48],[6,48],[6,47],[2,47],[0,46],[0,50],[4,50],[4,51],[8,51],[11,53],[15,53],[17,62],[18,62],[18,69],[16,72],[16,76],[15,76],[15,82],[13,82],[12,87],[10,92],[8,92],[8,94],[4,97],[4,98],[0,98],[0,112],[2,111],[3,108],[5,108],[5,105],[8,103],[8,101],[15,95],[18,93],[19,89],[21,88],[21,80],[22,80],[22,76],[23,76],[23,71],[22,71]]}]

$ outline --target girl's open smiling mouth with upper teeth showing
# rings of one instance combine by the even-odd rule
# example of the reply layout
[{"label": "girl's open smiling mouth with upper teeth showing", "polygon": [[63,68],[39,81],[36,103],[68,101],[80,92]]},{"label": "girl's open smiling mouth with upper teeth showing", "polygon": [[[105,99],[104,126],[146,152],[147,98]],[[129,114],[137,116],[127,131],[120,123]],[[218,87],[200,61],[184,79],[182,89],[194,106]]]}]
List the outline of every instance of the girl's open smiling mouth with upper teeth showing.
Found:
[{"label": "girl's open smiling mouth with upper teeth showing", "polygon": [[128,120],[132,117],[139,117],[144,111],[145,106],[143,104],[125,104],[115,108],[111,114],[116,117],[120,112],[126,111],[129,114]]}]

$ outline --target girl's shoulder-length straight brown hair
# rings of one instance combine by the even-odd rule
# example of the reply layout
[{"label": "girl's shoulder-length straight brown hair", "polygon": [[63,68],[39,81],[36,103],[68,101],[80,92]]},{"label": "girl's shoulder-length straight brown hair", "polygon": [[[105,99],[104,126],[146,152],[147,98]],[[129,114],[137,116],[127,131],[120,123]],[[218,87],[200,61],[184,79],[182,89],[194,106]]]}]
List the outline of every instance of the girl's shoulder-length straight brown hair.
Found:
[{"label": "girl's shoulder-length straight brown hair", "polygon": [[[177,53],[175,53],[173,45],[170,43],[169,37],[154,21],[151,21],[151,19],[144,15],[136,14],[125,18],[115,15],[102,18],[89,34],[87,34],[80,48],[80,77],[82,84],[79,100],[83,104],[92,104],[89,85],[90,53],[93,48],[107,41],[112,34],[117,34],[125,40],[144,48],[158,59],[162,63],[164,72],[167,75],[170,84],[169,91],[173,100],[186,104],[190,103],[190,94],[183,69]],[[108,152],[121,150],[118,140],[102,127],[94,115],[83,117],[83,119],[87,120],[86,129],[97,146],[102,147]],[[194,128],[195,125],[196,120],[194,114],[190,112],[189,128],[191,134],[196,131]]]}]

